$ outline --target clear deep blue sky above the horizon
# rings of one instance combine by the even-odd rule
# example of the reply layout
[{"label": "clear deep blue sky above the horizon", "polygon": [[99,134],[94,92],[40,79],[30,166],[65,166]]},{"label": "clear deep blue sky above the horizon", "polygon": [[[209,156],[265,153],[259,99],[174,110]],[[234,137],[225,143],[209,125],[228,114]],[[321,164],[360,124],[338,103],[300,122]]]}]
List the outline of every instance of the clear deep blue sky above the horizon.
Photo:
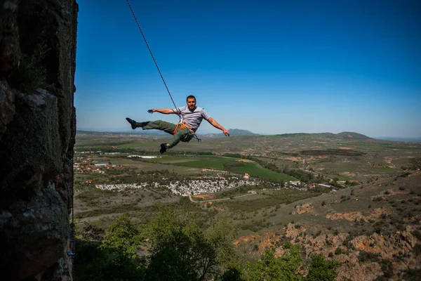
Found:
[{"label": "clear deep blue sky above the horizon", "polygon": [[[173,108],[125,0],[79,0],[79,129]],[[421,136],[421,1],[131,0],[175,104],[226,129]],[[202,122],[199,133],[218,129]]]}]

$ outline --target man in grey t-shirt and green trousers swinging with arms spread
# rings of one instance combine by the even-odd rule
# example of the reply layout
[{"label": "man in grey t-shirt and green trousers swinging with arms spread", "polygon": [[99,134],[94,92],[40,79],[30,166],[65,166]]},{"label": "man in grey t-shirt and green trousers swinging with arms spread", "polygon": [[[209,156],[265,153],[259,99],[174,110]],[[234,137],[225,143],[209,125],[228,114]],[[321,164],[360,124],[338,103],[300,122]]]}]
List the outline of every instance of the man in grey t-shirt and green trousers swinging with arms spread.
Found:
[{"label": "man in grey t-shirt and green trousers swinging with arms spread", "polygon": [[189,142],[194,137],[194,133],[199,128],[203,119],[208,121],[212,126],[217,129],[220,129],[225,136],[229,136],[229,131],[222,127],[215,119],[210,118],[208,112],[202,107],[196,106],[196,98],[194,96],[187,97],[187,106],[174,108],[173,110],[169,108],[163,108],[160,110],[148,110],[149,113],[159,112],[162,114],[177,114],[179,113],[182,116],[182,121],[179,124],[173,124],[170,122],[165,122],[162,120],[148,121],[148,122],[135,122],[135,120],[126,118],[126,120],[131,124],[132,129],[142,128],[144,130],[157,129],[165,131],[166,133],[171,133],[173,138],[169,143],[161,143],[161,150],[159,152],[163,153],[168,150],[168,148],[173,148],[175,145],[182,142]]}]

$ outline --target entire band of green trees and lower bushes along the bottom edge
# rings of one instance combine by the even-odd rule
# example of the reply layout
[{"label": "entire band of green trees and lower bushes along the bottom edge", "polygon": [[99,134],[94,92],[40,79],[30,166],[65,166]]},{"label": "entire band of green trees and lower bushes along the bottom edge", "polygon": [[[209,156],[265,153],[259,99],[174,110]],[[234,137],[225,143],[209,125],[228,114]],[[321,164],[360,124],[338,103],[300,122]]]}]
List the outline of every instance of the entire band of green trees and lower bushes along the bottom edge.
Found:
[{"label": "entire band of green trees and lower bushes along the bottom edge", "polygon": [[117,218],[107,230],[86,224],[78,231],[74,280],[335,280],[338,263],[313,255],[302,259],[299,244],[283,244],[285,252],[272,250],[256,261],[234,248],[236,228],[218,218],[200,228],[199,213],[189,208],[159,205],[147,223],[128,216]]}]

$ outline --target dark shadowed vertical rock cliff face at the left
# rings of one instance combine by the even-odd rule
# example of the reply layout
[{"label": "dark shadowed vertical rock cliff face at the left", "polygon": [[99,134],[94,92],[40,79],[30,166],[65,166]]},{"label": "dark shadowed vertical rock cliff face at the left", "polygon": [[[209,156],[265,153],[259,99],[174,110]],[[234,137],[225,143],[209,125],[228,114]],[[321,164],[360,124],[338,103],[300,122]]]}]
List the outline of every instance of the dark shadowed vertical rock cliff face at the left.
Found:
[{"label": "dark shadowed vertical rock cliff face at the left", "polygon": [[1,280],[72,280],[75,0],[0,0]]}]

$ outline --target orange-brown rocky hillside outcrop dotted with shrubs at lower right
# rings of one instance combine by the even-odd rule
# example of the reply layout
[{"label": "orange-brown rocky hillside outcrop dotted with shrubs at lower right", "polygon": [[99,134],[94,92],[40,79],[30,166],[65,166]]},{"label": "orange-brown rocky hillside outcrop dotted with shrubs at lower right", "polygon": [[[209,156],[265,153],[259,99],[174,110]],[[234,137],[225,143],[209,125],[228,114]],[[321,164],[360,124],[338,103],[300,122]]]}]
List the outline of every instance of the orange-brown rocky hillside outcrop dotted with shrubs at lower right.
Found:
[{"label": "orange-brown rocky hillside outcrop dotted with shrubs at lower right", "polygon": [[[376,214],[376,211],[374,213]],[[255,258],[262,256],[265,249],[269,248],[274,248],[276,257],[282,256],[288,251],[282,247],[285,241],[300,244],[306,261],[309,261],[312,254],[322,254],[326,259],[338,261],[338,281],[418,280],[408,279],[406,276],[408,270],[419,270],[421,264],[420,254],[414,251],[420,243],[413,235],[417,233],[417,226],[418,224],[406,226],[405,230],[391,235],[373,233],[354,237],[339,232],[308,235],[306,233],[311,232],[309,228],[288,223],[288,226],[276,232],[269,230],[266,233],[242,236],[234,244],[239,247],[249,242],[250,245],[257,246],[250,247],[252,250],[248,252],[248,255]],[[301,273],[308,273],[305,266],[302,267]]]}]

